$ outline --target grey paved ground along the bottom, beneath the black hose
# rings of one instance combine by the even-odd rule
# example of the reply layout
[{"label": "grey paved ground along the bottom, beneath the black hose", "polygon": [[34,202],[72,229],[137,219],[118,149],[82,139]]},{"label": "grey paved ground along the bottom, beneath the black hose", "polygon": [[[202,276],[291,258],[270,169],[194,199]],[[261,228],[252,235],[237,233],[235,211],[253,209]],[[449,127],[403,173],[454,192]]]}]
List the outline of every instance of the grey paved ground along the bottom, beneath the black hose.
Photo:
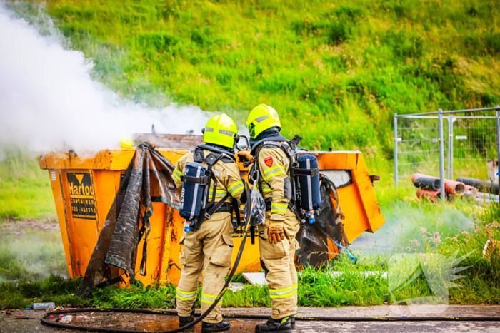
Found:
[{"label": "grey paved ground along the bottom, beneath the black hose", "polygon": [[[270,314],[269,309],[224,309],[226,314]],[[43,311],[20,310],[10,316],[0,314],[1,333],[24,332],[76,332],[67,329],[54,329],[42,325],[39,318]],[[35,319],[15,319],[16,315],[24,315]],[[174,316],[136,315],[136,314],[94,314],[85,313],[87,319],[74,319],[81,326],[106,327],[116,329],[136,329],[138,331],[159,331],[178,327]],[[301,307],[299,315],[321,317],[383,317],[390,315],[389,307],[341,307],[338,309],[321,309]],[[500,317],[500,306],[484,305],[451,305],[444,314],[439,316],[454,317]],[[250,319],[230,319],[230,332],[254,332],[254,327],[262,321]],[[186,332],[201,332],[201,325]],[[297,321],[296,333],[309,332],[469,332],[495,333],[500,332],[500,322],[301,322]]]}]

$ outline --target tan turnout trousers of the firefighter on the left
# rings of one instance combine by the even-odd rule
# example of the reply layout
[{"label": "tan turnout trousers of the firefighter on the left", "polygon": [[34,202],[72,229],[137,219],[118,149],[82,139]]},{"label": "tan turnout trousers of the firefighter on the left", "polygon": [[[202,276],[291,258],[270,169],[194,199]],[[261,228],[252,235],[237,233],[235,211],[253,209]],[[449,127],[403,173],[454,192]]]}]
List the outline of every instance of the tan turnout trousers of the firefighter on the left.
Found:
[{"label": "tan turnout trousers of the firefighter on the left", "polygon": [[[184,267],[182,267],[181,280],[176,292],[179,316],[191,315],[191,307],[196,302],[203,270],[205,273],[201,293],[201,312],[205,312],[214,303],[224,287],[225,277],[231,267],[232,234],[233,225],[229,212],[214,214],[210,220],[204,221],[196,232],[184,233],[179,257]],[[222,299],[203,321],[221,322],[221,305]]]}]

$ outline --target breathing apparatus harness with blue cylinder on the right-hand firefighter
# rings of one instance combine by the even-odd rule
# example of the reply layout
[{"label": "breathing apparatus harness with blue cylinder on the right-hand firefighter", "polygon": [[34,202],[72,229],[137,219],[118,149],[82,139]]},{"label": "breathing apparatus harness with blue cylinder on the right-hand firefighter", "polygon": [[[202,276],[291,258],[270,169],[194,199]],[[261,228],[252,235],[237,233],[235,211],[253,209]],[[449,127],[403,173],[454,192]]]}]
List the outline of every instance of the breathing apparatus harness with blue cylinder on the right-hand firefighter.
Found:
[{"label": "breathing apparatus harness with blue cylinder on the right-hand firefighter", "polygon": [[[259,169],[259,153],[264,148],[280,148],[290,159],[288,175],[291,183],[291,198],[288,208],[295,213],[299,221],[304,224],[306,217],[309,217],[309,223],[315,222],[314,212],[321,213],[321,193],[319,193],[319,168],[316,157],[312,155],[301,155],[299,157],[297,145],[302,140],[299,135],[295,135],[291,140],[267,140],[261,143],[254,155],[254,162],[249,170],[249,183],[257,181],[259,192],[264,197],[262,190],[262,181],[267,185],[269,183],[262,178]],[[313,163],[311,163],[311,160]],[[303,163],[305,162],[305,164]],[[249,163],[248,163],[249,164]],[[312,165],[311,165],[312,164]],[[248,166],[248,165],[246,165]],[[304,181],[306,181],[306,186]],[[271,210],[271,198],[266,200],[266,210]],[[253,242],[252,242],[253,244]]]}]

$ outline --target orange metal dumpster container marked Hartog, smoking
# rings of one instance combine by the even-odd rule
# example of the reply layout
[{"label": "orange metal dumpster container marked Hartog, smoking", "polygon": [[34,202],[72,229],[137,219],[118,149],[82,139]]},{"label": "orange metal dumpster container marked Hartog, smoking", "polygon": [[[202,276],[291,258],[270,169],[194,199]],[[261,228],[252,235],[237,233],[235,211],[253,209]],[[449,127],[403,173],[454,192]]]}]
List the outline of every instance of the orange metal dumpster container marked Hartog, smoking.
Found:
[{"label": "orange metal dumpster container marked Hartog, smoking", "polygon": [[[153,138],[154,135],[149,137]],[[201,143],[201,135],[162,135],[155,143],[157,150],[171,163],[189,153]],[[162,145],[163,147],[161,147]],[[83,276],[92,252],[111,208],[126,168],[134,156],[135,148],[102,150],[92,156],[79,156],[74,152],[49,153],[39,156],[40,168],[49,170],[51,188],[56,203],[57,217],[66,254],[69,277]],[[359,151],[307,152],[318,158],[321,173],[334,181],[344,212],[344,231],[349,243],[361,233],[375,232],[384,225],[364,158]],[[247,168],[239,165],[246,178]],[[148,261],[146,276],[136,275],[144,285],[153,282],[176,284],[181,276],[179,241],[183,222],[179,211],[165,203],[153,203],[151,232],[147,238]],[[234,224],[234,248],[239,248],[243,230]],[[142,257],[144,238],[139,242],[137,257]],[[339,249],[329,241],[329,257]],[[232,260],[236,258],[233,252]],[[139,270],[139,265],[136,271]],[[261,270],[259,246],[246,243],[239,272]]]}]

